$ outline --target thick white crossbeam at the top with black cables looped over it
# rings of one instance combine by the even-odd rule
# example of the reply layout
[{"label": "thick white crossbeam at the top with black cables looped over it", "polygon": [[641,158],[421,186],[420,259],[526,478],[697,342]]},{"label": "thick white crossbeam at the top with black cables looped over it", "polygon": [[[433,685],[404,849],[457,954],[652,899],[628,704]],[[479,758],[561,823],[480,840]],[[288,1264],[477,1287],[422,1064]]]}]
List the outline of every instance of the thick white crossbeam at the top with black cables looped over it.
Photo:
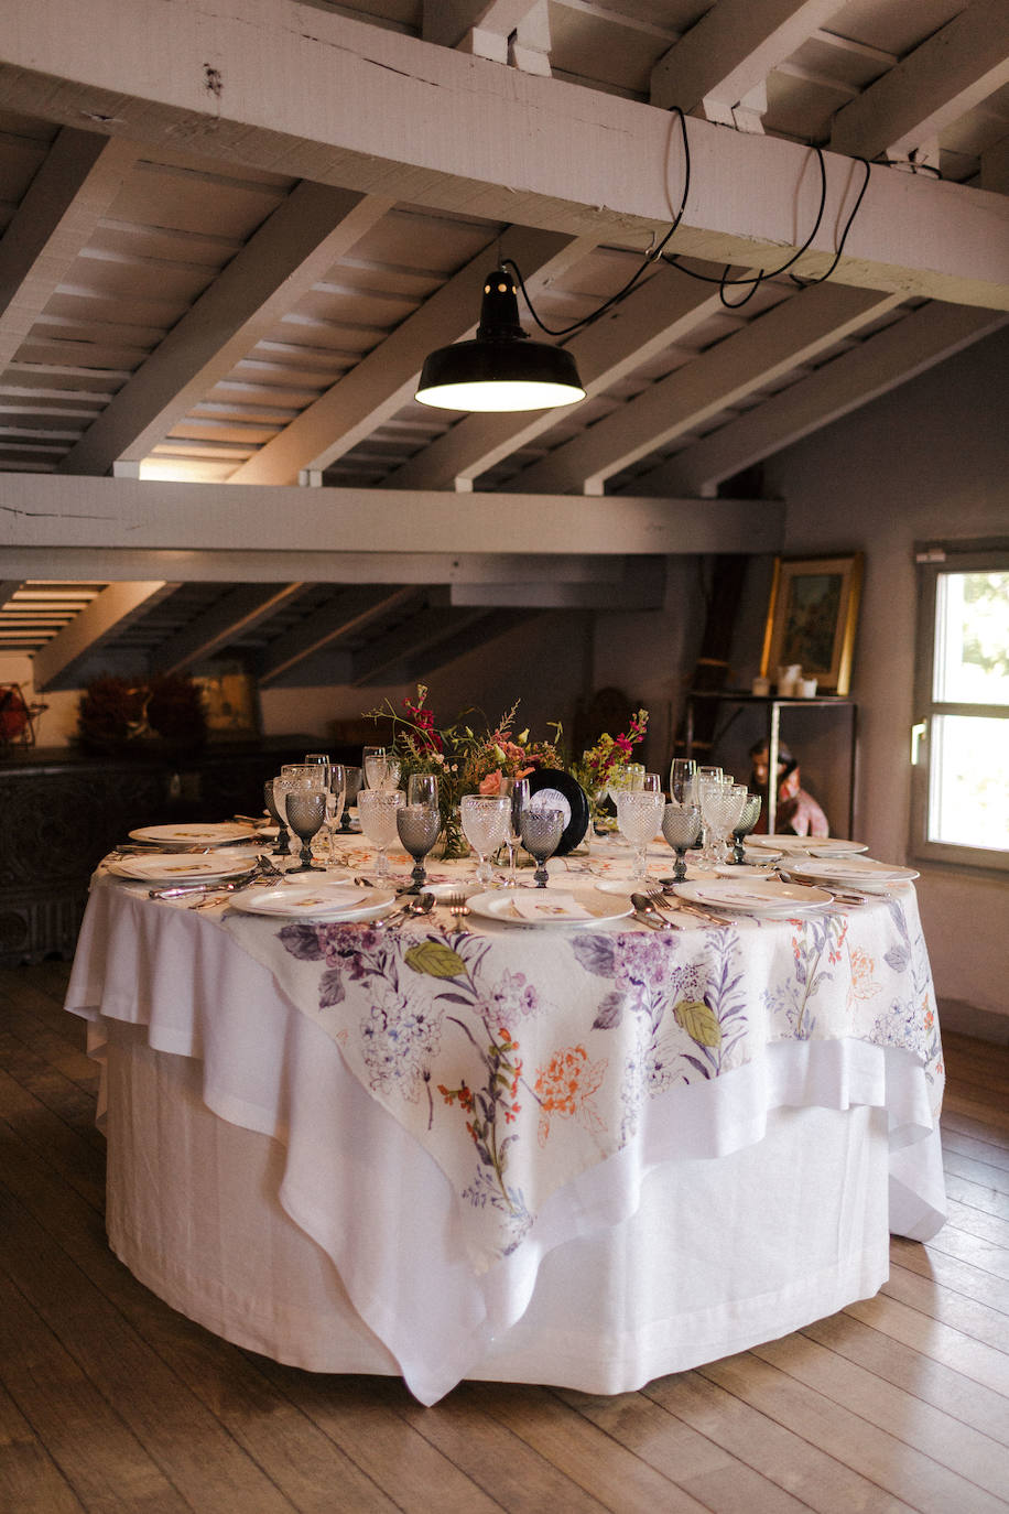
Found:
[{"label": "thick white crossbeam at the top with black cables looped over it", "polygon": [[[667,112],[336,12],[313,9],[310,27],[304,17],[293,0],[5,0],[0,106],[71,124],[88,112],[109,135],[174,151],[640,250],[667,229],[682,179]],[[815,220],[809,150],[694,118],[688,133],[676,251],[773,266]],[[847,159],[827,154],[826,168],[811,277],[829,266],[858,192]],[[832,277],[1006,307],[1007,262],[1003,197],[882,171]]]}]

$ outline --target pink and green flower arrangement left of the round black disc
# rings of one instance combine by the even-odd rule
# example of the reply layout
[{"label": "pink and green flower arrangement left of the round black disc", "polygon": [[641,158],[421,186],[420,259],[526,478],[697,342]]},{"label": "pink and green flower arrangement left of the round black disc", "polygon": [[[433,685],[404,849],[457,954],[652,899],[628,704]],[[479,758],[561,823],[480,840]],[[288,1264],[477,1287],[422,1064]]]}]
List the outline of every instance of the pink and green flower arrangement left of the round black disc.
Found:
[{"label": "pink and green flower arrangement left of the round black disc", "polygon": [[445,855],[458,857],[464,851],[458,824],[463,795],[499,793],[502,778],[525,778],[537,768],[560,768],[561,725],[560,721],[549,722],[555,731],[552,742],[529,740],[528,730],[514,731],[517,701],[493,728],[486,722],[478,728],[473,718],[480,712],[472,709],[463,710],[449,725],[437,725],[427,699],[428,687],[419,683],[416,699],[402,701],[405,715],[386,699],[380,709],[368,710],[368,718],[392,718],[392,748],[399,759],[404,784],[414,772],[437,775]]}]

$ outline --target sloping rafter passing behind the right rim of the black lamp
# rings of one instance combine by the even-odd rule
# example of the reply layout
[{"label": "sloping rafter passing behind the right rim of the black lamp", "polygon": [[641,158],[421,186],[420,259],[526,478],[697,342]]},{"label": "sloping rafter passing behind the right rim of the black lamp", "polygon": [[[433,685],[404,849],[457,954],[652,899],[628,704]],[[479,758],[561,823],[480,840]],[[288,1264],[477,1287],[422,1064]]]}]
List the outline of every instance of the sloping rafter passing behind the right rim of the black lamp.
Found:
[{"label": "sloping rafter passing behind the right rim of the black lamp", "polygon": [[[601,394],[719,310],[717,291],[670,268],[658,269],[622,304],[567,342],[585,394]],[[390,474],[386,488],[472,489],[475,478],[552,425],[557,425],[555,410],[470,415]]]}]

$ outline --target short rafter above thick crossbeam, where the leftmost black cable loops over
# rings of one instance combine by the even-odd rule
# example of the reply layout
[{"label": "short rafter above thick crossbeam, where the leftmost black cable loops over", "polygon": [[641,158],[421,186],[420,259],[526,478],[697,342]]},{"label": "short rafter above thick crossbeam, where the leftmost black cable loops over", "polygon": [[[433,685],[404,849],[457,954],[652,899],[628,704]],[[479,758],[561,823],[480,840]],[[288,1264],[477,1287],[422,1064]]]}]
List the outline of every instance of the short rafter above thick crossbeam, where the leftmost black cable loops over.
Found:
[{"label": "short rafter above thick crossbeam, where the leftmost black cable loops over", "polygon": [[690,114],[738,104],[841,9],[841,0],[719,0],[652,70],[650,101]]}]

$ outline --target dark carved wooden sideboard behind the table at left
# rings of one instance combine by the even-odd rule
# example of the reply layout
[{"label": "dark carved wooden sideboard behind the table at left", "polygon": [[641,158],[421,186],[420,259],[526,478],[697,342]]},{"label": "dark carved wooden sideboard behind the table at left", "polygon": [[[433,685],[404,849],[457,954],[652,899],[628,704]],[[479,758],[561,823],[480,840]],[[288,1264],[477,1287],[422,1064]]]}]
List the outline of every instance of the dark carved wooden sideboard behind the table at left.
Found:
[{"label": "dark carved wooden sideboard behind the table at left", "polygon": [[163,755],[0,760],[0,966],[71,957],[95,864],[138,825],[262,815],[263,781],[318,737]]}]

